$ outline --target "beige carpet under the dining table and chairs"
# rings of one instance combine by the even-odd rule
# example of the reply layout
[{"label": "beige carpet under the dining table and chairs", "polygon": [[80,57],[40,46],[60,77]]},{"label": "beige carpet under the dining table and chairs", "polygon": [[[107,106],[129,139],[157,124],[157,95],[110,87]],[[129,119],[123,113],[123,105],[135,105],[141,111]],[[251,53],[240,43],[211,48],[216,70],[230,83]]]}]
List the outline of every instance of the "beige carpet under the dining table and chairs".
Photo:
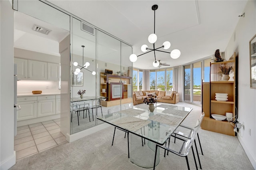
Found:
[{"label": "beige carpet under the dining table and chairs", "polygon": [[[182,105],[180,103],[179,105]],[[191,105],[193,106],[193,105]],[[200,114],[200,107],[193,106],[192,114],[185,122],[190,122]],[[108,127],[72,143],[64,143],[44,152],[23,158],[11,170],[140,170],[130,162],[127,151],[127,138],[124,132],[116,130],[111,146],[114,127]],[[200,130],[200,140],[204,155],[200,153],[204,170],[253,170],[248,157],[236,136],[228,136],[207,130]],[[174,154],[164,158],[160,150],[160,163],[156,170],[187,169],[186,159]],[[146,159],[145,155],[144,158]],[[190,169],[195,169],[192,152],[189,153]],[[154,161],[154,160],[152,160]],[[152,168],[150,168],[152,169]]]}]

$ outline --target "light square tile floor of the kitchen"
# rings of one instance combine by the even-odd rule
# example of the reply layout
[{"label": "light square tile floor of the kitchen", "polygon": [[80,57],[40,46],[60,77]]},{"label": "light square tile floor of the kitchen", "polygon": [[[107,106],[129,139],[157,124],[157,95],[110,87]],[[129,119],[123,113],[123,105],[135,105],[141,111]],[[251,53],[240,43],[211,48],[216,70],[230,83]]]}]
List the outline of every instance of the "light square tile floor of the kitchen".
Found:
[{"label": "light square tile floor of the kitchen", "polygon": [[60,119],[18,127],[17,136],[14,137],[16,160],[64,142],[66,137],[60,132]]}]

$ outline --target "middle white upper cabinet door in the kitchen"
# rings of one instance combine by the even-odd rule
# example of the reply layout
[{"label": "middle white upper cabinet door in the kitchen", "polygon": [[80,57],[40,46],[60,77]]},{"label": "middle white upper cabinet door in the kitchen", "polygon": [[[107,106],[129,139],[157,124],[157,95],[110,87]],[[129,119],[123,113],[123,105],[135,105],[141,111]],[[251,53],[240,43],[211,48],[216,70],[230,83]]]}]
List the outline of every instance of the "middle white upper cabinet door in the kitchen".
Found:
[{"label": "middle white upper cabinet door in the kitchen", "polygon": [[28,60],[28,79],[47,80],[47,63]]}]

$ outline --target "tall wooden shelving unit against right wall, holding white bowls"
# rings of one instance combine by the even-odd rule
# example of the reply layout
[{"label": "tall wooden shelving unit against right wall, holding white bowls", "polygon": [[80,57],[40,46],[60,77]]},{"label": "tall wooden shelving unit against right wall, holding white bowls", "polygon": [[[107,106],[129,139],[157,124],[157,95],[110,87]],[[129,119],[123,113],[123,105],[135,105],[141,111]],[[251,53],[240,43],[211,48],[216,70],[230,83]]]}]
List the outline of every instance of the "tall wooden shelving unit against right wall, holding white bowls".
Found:
[{"label": "tall wooden shelving unit against right wall, holding white bowls", "polygon": [[[233,113],[233,117],[236,116],[236,53],[234,53],[233,59],[230,61],[223,61],[217,63],[210,63],[210,83],[203,83],[203,105],[202,111],[206,112],[204,120],[202,122],[202,129],[218,132],[222,134],[228,134],[235,136],[234,127],[228,121],[216,121],[212,118],[212,114],[226,115],[226,112]],[[231,58],[232,58],[231,57]],[[233,67],[234,81],[216,81],[214,74],[218,73],[221,65],[229,65]],[[205,89],[204,89],[205,86]],[[228,93],[228,101],[217,101],[215,99],[215,93]],[[208,95],[208,97],[207,97]],[[207,104],[207,102],[209,104]],[[235,119],[235,118],[234,118]]]}]

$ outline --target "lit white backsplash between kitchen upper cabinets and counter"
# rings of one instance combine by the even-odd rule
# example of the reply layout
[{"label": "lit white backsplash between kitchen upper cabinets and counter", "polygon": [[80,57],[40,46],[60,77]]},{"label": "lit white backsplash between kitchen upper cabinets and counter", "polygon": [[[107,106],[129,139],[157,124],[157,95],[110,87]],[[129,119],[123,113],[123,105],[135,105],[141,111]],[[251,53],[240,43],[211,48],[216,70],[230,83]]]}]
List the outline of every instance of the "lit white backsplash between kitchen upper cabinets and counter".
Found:
[{"label": "lit white backsplash between kitchen upper cabinets and counter", "polygon": [[41,90],[42,93],[60,93],[58,81],[17,81],[17,94],[32,93]]}]

